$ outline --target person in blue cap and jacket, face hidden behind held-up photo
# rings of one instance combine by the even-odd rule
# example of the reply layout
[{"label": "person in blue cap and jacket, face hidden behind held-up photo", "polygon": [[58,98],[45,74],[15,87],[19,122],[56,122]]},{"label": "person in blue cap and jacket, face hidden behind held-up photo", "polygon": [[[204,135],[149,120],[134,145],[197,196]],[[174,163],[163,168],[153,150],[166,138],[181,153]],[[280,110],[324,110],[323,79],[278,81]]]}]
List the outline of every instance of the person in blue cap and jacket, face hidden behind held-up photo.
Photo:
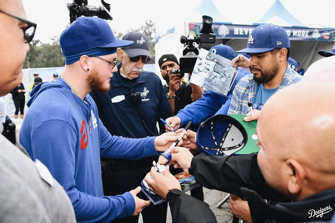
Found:
[{"label": "person in blue cap and jacket, face hidden behind held-up photo", "polygon": [[[235,58],[234,50],[227,45],[216,45],[210,48],[209,51],[228,60]],[[184,109],[180,110],[176,116],[166,119],[166,122],[172,127],[175,127],[175,129],[178,129],[180,126],[186,125],[189,121],[192,121],[193,124],[200,124],[214,114],[227,114],[231,93],[236,83],[247,74],[250,74],[250,72],[239,68],[237,77],[235,78],[227,97],[206,90],[200,99],[187,105]],[[172,129],[169,129],[168,127],[165,128],[168,131],[172,131]]]}]

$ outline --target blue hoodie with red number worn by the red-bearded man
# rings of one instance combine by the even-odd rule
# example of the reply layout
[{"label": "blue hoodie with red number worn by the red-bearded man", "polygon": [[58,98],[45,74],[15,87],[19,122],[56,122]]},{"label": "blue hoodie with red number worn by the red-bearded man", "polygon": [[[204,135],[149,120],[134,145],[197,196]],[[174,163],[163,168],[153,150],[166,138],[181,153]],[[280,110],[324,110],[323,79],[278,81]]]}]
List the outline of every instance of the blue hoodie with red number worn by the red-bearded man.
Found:
[{"label": "blue hoodie with red number worn by the red-bearded man", "polygon": [[64,187],[77,221],[110,222],[131,216],[135,201],[129,192],[103,196],[100,155],[123,159],[157,155],[154,137],[112,136],[100,121],[91,96],[85,96],[85,103],[61,78],[39,84],[31,95],[20,143]]}]

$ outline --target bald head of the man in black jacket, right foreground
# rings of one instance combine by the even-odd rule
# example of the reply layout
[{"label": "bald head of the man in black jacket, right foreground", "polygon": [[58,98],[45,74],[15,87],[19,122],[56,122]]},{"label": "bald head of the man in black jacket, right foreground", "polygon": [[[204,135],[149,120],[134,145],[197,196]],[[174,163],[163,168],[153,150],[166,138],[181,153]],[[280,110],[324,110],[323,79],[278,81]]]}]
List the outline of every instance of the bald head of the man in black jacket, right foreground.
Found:
[{"label": "bald head of the man in black jacket, right foreground", "polygon": [[293,199],[335,187],[333,95],[331,84],[295,84],[262,108],[257,125],[261,171],[270,186]]}]

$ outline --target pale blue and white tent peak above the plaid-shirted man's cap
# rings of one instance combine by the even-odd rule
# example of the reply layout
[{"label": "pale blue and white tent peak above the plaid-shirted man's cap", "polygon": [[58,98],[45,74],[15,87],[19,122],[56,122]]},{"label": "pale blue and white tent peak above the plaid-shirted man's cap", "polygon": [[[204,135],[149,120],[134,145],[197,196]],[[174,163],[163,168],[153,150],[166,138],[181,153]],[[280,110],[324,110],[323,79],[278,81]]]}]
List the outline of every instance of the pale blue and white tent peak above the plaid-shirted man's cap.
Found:
[{"label": "pale blue and white tent peak above the plaid-shirted man's cap", "polygon": [[264,23],[273,23],[286,27],[307,27],[297,20],[279,0],[274,2],[270,9],[259,19],[258,23],[254,23],[254,25]]}]

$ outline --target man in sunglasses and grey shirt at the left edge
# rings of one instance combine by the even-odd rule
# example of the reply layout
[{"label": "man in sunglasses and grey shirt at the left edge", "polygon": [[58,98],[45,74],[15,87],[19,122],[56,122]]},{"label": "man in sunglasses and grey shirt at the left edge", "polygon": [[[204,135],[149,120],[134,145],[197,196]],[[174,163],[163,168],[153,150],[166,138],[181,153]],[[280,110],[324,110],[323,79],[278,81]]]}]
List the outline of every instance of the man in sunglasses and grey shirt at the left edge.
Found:
[{"label": "man in sunglasses and grey shirt at the left edge", "polygon": [[[0,96],[22,81],[27,42],[36,28],[25,17],[21,1],[0,1]],[[33,162],[21,145],[12,144],[2,134],[0,145],[0,222],[76,222],[69,197],[48,169],[38,160]]]}]

